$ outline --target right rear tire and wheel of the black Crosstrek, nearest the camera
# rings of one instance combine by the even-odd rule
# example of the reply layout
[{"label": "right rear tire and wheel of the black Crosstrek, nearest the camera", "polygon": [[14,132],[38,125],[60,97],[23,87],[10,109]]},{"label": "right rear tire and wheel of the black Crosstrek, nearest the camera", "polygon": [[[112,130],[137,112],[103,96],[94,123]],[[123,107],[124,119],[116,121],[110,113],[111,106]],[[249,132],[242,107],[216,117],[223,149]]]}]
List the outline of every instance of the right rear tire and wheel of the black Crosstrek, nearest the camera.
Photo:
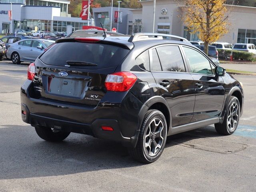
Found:
[{"label": "right rear tire and wheel of the black Crosstrek, nearest the camera", "polygon": [[[154,123],[154,126],[156,126],[155,132],[154,132],[154,126],[151,128],[152,130],[149,127],[151,123]],[[157,133],[158,135],[160,134],[160,136],[162,137],[159,140],[156,136]],[[148,110],[142,122],[136,148],[128,148],[129,154],[130,156],[132,156],[132,158],[134,158],[139,162],[152,163],[161,156],[164,150],[164,146],[166,144],[166,137],[167,137],[167,124],[166,124],[166,119],[164,117],[164,114],[162,114],[162,112],[160,112],[159,110],[155,110],[155,109]],[[150,148],[149,148],[149,143],[150,143]],[[154,152],[151,152],[151,147],[153,148],[155,145],[159,143],[161,143],[160,148],[158,147],[158,149],[156,149],[155,147]],[[147,147],[146,147],[146,144],[148,145]]]}]

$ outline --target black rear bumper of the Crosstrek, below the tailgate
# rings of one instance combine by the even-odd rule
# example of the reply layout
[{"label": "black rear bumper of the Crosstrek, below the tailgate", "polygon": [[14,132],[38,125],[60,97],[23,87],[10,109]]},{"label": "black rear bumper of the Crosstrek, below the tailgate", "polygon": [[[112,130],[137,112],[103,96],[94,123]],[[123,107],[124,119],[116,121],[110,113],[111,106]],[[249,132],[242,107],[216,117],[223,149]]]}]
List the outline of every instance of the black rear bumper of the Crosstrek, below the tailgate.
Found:
[{"label": "black rear bumper of the Crosstrek, below the tailgate", "polygon": [[[68,106],[54,100],[31,98],[28,94],[30,84],[31,81],[26,80],[21,88],[21,115],[24,122],[32,126],[46,126],[114,140],[122,142],[124,146],[136,146],[140,132],[140,115],[139,109],[134,109],[134,105],[122,107],[122,104],[118,104],[96,108]],[[132,94],[128,95],[131,96]],[[142,106],[136,98],[134,102],[139,104],[138,107]],[[112,127],[113,131],[102,130],[102,126]]]}]

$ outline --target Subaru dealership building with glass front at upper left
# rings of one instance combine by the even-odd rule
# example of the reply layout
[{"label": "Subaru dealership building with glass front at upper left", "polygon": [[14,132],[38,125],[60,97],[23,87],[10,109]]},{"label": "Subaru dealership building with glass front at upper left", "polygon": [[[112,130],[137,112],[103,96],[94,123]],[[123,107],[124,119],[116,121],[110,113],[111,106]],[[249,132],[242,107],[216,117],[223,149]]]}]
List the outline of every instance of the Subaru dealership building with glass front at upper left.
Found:
[{"label": "Subaru dealership building with glass front at upper left", "polygon": [[[12,2],[12,4],[11,4]],[[43,31],[82,29],[87,20],[74,18],[68,14],[68,0],[0,0],[0,33],[12,33],[17,29],[34,29]],[[12,9],[12,20],[8,12]],[[94,25],[90,19],[90,25]]]}]

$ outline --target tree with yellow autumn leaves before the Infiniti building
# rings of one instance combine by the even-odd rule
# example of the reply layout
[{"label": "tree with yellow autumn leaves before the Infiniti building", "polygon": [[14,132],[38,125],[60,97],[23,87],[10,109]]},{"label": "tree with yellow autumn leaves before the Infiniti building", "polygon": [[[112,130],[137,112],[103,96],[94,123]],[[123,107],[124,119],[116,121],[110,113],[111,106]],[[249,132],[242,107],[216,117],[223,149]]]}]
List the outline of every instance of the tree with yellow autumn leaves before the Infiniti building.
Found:
[{"label": "tree with yellow autumn leaves before the Infiniti building", "polygon": [[184,24],[189,30],[198,32],[204,41],[204,52],[208,54],[208,45],[217,41],[228,32],[226,0],[185,0]]}]

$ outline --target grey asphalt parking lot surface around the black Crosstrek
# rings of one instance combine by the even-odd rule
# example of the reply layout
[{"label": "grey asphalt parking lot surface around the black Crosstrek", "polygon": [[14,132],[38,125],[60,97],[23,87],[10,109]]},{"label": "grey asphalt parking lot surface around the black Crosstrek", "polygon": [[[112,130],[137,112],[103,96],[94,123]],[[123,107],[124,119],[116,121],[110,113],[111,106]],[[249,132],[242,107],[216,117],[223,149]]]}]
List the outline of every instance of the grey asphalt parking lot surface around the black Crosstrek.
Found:
[{"label": "grey asphalt parking lot surface around the black Crosstrek", "polygon": [[74,133],[58,143],[40,139],[20,116],[27,67],[0,62],[0,192],[256,191],[256,76],[235,76],[245,91],[235,134],[206,126],[170,136],[145,165],[116,142]]}]

